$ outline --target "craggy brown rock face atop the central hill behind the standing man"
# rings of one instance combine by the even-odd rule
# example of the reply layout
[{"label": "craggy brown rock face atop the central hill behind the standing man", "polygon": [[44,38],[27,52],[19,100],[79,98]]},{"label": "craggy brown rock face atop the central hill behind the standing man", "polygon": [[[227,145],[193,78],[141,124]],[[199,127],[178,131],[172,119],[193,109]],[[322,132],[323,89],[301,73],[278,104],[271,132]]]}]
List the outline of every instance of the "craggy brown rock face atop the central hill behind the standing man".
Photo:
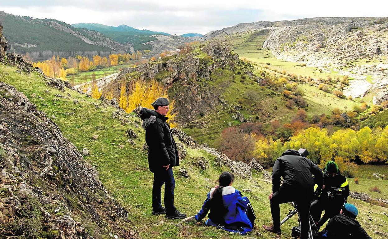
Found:
[{"label": "craggy brown rock face atop the central hill behind the standing man", "polygon": [[[138,67],[128,67],[120,72],[114,83],[120,88],[121,80],[132,78],[156,79],[169,88],[170,98],[175,100],[178,120],[193,120],[199,113],[206,113],[219,104],[222,89],[209,84],[216,68],[235,64],[238,55],[218,41],[194,46],[195,50],[175,54],[162,60],[148,62]],[[225,83],[227,84],[227,83]],[[128,86],[127,89],[130,87]],[[171,93],[173,92],[173,93]]]}]

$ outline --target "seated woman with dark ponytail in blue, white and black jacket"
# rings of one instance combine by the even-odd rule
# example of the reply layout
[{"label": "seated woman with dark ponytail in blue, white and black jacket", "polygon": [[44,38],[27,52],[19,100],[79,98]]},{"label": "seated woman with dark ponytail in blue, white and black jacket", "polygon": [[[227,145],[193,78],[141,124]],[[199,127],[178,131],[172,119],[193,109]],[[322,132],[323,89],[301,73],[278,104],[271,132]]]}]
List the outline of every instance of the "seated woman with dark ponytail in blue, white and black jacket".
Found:
[{"label": "seated woman with dark ponytail in blue, white and black jacket", "polygon": [[253,222],[256,219],[255,212],[248,198],[243,197],[237,189],[232,187],[233,182],[234,175],[230,172],[223,172],[218,179],[219,185],[210,190],[201,211],[182,221],[202,220],[210,210],[206,225],[242,235],[252,231]]}]

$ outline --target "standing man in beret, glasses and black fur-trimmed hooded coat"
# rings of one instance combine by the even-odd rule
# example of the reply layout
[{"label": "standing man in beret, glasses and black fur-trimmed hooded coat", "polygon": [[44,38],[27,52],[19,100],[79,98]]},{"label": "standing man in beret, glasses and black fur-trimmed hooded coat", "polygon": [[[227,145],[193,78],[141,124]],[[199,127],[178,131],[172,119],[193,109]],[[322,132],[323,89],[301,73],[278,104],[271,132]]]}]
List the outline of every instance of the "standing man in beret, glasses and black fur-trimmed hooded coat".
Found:
[{"label": "standing man in beret, glasses and black fur-trimmed hooded coat", "polygon": [[[166,98],[158,98],[151,104],[155,110],[142,108],[140,118],[145,129],[145,142],[148,145],[148,166],[154,173],[152,186],[152,214],[166,213],[167,218],[182,219],[186,214],[180,213],[174,206],[175,179],[173,166],[179,166],[177,144],[170,131],[166,117],[170,108]],[[165,207],[161,204],[161,189],[165,184]]]}]

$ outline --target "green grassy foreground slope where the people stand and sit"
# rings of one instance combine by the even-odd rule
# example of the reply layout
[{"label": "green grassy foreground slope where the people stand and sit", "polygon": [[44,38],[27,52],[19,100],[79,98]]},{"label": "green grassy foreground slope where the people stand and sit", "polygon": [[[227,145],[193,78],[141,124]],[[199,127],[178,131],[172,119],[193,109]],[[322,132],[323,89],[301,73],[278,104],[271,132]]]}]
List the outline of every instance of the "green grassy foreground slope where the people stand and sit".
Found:
[{"label": "green grassy foreground slope where the people stand and sit", "polygon": [[[129,219],[137,226],[141,238],[244,238],[213,227],[206,227],[203,224],[181,224],[177,220],[167,220],[163,216],[152,216],[152,174],[147,169],[147,156],[141,150],[144,144],[144,131],[135,128],[133,124],[133,122],[139,124],[140,119],[135,116],[130,116],[127,120],[114,119],[112,113],[116,109],[100,104],[102,101],[69,89],[62,93],[57,89],[47,87],[36,73],[19,74],[16,70],[14,67],[0,65],[0,81],[11,84],[22,91],[33,104],[36,104],[38,110],[43,110],[60,127],[63,135],[79,150],[85,147],[90,150],[90,155],[85,156],[85,159],[99,170],[100,180],[112,196],[130,210]],[[227,73],[227,71],[223,72],[225,75]],[[236,91],[245,87],[253,86],[241,84]],[[74,100],[78,100],[79,104],[74,104]],[[128,139],[125,135],[127,129],[133,129],[139,135],[139,138],[135,140],[135,145],[126,141]],[[99,139],[93,140],[93,135],[99,135]],[[209,169],[201,170],[193,166],[192,158],[199,156],[209,160]],[[220,172],[227,169],[214,166],[213,156],[202,150],[187,149],[187,155],[182,159],[181,164],[180,167],[188,169],[191,178],[186,179],[179,176],[180,167],[174,168],[175,204],[179,210],[188,215],[194,215],[200,209],[206,193],[214,186],[213,182]],[[210,182],[205,178],[210,179]],[[388,186],[387,182],[381,181],[382,186]],[[261,173],[253,172],[252,180],[237,177],[234,186],[240,190],[246,188],[252,190],[244,195],[251,200],[258,218],[256,230],[249,236],[257,237],[258,233],[261,233],[263,234],[261,238],[274,238],[272,234],[264,232],[261,228],[262,224],[271,223],[267,199],[271,191],[270,184],[263,181]],[[353,185],[351,185],[351,190],[353,190],[352,187]],[[388,209],[371,206],[355,199],[349,199],[349,201],[359,208],[360,223],[368,233],[373,238],[383,238],[374,235],[373,232],[388,230],[388,217],[383,215],[383,212],[388,213]],[[291,209],[290,205],[282,205],[281,217],[284,217],[289,209]],[[372,218],[372,223],[369,217]],[[282,227],[284,235],[282,238],[290,238],[291,227],[297,224],[296,219],[296,217],[292,218]],[[106,235],[106,237],[109,236]]]}]

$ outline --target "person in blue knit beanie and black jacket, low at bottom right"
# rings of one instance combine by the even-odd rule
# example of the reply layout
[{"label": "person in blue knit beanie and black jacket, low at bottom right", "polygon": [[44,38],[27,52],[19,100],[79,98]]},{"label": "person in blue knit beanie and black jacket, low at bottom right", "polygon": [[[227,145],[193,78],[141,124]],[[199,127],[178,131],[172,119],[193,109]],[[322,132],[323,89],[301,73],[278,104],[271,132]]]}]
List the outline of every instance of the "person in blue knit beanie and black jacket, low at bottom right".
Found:
[{"label": "person in blue knit beanie and black jacket, low at bottom right", "polygon": [[329,220],[318,234],[324,239],[372,239],[356,220],[359,210],[352,203],[345,203],[340,214]]}]

